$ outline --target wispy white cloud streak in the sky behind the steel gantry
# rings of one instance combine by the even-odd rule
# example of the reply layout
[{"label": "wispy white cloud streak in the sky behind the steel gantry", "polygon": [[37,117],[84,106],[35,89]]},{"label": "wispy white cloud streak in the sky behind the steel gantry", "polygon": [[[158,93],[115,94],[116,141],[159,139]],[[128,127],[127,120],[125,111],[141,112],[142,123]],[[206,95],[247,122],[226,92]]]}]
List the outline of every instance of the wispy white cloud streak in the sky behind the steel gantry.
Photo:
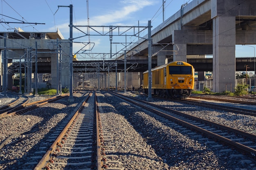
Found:
[{"label": "wispy white cloud streak in the sky behind the steel gantry", "polygon": [[[118,5],[116,6],[116,9],[110,10],[110,9],[106,9],[106,11],[100,11],[101,13],[103,13],[102,15],[97,15],[97,16],[90,16],[90,26],[108,26],[108,25],[115,25],[115,26],[131,26],[134,24],[130,24],[133,23],[132,21],[136,21],[139,20],[138,16],[135,15],[136,12],[139,12],[140,10],[142,11],[145,7],[153,5],[153,0],[121,0],[119,1],[119,5],[121,4],[121,7]],[[74,25],[81,25],[81,26],[85,26],[88,25],[88,21],[87,18],[83,18],[83,19],[78,19],[77,18],[78,15],[76,15],[76,21],[73,20],[73,24]],[[128,23],[128,22],[129,23]],[[69,28],[69,22],[65,22],[63,24],[60,25],[56,25],[52,28],[49,28],[50,30],[55,30],[56,28],[58,28],[61,33],[63,34],[63,36],[65,37],[65,39],[69,38],[69,33],[70,33],[70,28]],[[79,29],[83,30],[85,33],[87,33],[87,28],[85,27],[79,27]],[[99,27],[99,28],[95,28],[97,31],[99,31],[99,33],[103,32],[103,28]],[[108,32],[109,28],[104,28],[104,33]],[[114,30],[116,31],[116,30]],[[122,29],[120,29],[119,31],[123,31]],[[95,31],[91,31],[90,34],[97,34]],[[73,38],[74,37],[79,37],[79,36],[83,36],[84,34],[79,32],[76,30],[76,28],[73,28]],[[91,37],[92,38],[92,37]],[[103,37],[99,38],[99,39],[91,39],[91,42],[95,43],[94,48],[97,48],[97,46],[101,46],[101,48],[109,48],[109,37],[107,37],[108,41],[105,42],[106,40],[104,40]],[[115,37],[116,40],[116,37]],[[85,36],[81,39],[76,39],[74,41],[87,41],[88,42],[88,36]],[[103,43],[105,42],[105,43]],[[123,42],[123,41],[122,41]],[[73,44],[73,52],[77,52],[78,50],[80,50],[81,48],[83,48],[83,45],[81,44]],[[86,47],[87,48],[87,47]],[[86,49],[85,48],[85,49]],[[113,47],[114,48],[114,47]],[[95,52],[95,50],[93,49],[93,51]]]}]

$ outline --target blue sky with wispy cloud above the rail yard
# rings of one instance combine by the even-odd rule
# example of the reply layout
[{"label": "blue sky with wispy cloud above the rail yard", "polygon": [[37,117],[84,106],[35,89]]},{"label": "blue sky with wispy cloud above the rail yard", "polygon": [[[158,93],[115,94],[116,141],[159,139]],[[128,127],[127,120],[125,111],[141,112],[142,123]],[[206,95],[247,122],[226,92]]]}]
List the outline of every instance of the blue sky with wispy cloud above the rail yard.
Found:
[{"label": "blue sky with wispy cloud above the rail yard", "polygon": [[[165,0],[164,19],[171,17],[171,15],[179,11],[182,4],[191,1],[192,0]],[[20,27],[27,32],[55,32],[58,28],[65,39],[68,39],[70,31],[68,27],[70,22],[70,9],[65,7],[58,9],[58,6],[69,6],[70,4],[73,4],[74,25],[138,26],[139,22],[139,26],[147,26],[148,20],[151,20],[151,25],[155,28],[161,24],[163,20],[162,0],[1,0],[1,21],[23,21],[45,24],[0,23],[0,31],[13,31],[13,28]],[[147,31],[143,33],[146,35]],[[83,35],[83,33],[73,28],[73,37]],[[75,41],[89,42],[89,38],[90,42],[94,43],[94,47],[90,52],[110,52],[109,36],[86,36],[76,39]],[[136,37],[127,37],[126,39],[125,37],[113,37],[112,42],[116,44],[112,45],[112,53],[123,48],[123,45],[117,43],[129,43],[135,42],[136,40]],[[81,48],[83,48],[82,44],[73,44],[74,53]],[[86,48],[88,49],[88,46]],[[249,46],[236,46],[236,56],[254,57],[254,48]],[[94,55],[94,57],[97,59],[97,56]]]}]

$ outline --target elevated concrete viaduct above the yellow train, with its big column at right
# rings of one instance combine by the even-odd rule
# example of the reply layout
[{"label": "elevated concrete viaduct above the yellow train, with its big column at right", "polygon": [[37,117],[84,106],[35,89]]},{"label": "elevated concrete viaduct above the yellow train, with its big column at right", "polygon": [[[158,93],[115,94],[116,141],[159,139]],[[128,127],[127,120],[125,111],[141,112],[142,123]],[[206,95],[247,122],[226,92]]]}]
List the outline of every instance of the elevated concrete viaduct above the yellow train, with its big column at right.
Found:
[{"label": "elevated concrete viaduct above the yellow train, with its big column at right", "polygon": [[[193,0],[151,31],[151,53],[157,65],[168,57],[187,61],[190,54],[212,54],[213,91],[223,92],[226,84],[235,86],[236,44],[256,44],[255,9],[255,0]],[[126,55],[147,56],[148,41],[138,43]]]}]

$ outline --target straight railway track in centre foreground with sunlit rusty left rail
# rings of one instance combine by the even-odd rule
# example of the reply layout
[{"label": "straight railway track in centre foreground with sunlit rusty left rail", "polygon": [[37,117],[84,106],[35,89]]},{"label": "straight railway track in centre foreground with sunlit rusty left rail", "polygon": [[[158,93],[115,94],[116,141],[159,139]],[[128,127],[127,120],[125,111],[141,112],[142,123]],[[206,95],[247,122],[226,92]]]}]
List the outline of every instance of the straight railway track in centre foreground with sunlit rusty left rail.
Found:
[{"label": "straight railway track in centre foreground with sunlit rusty left rail", "polygon": [[42,168],[89,170],[97,166],[101,167],[96,159],[97,142],[95,141],[99,142],[99,137],[95,138],[95,133],[99,130],[95,122],[97,117],[95,100],[95,94],[93,97],[88,97],[67,125],[59,126],[55,132],[55,135],[59,134],[58,137],[34,170]]}]

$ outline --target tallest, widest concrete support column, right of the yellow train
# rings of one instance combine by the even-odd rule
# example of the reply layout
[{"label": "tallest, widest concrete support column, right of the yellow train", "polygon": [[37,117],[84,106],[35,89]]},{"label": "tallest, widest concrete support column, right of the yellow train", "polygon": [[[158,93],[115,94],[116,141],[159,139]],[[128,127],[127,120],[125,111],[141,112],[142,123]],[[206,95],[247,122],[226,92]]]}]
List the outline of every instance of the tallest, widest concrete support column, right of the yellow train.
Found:
[{"label": "tallest, widest concrete support column, right of the yellow train", "polygon": [[213,18],[213,92],[225,92],[236,83],[236,18]]}]

